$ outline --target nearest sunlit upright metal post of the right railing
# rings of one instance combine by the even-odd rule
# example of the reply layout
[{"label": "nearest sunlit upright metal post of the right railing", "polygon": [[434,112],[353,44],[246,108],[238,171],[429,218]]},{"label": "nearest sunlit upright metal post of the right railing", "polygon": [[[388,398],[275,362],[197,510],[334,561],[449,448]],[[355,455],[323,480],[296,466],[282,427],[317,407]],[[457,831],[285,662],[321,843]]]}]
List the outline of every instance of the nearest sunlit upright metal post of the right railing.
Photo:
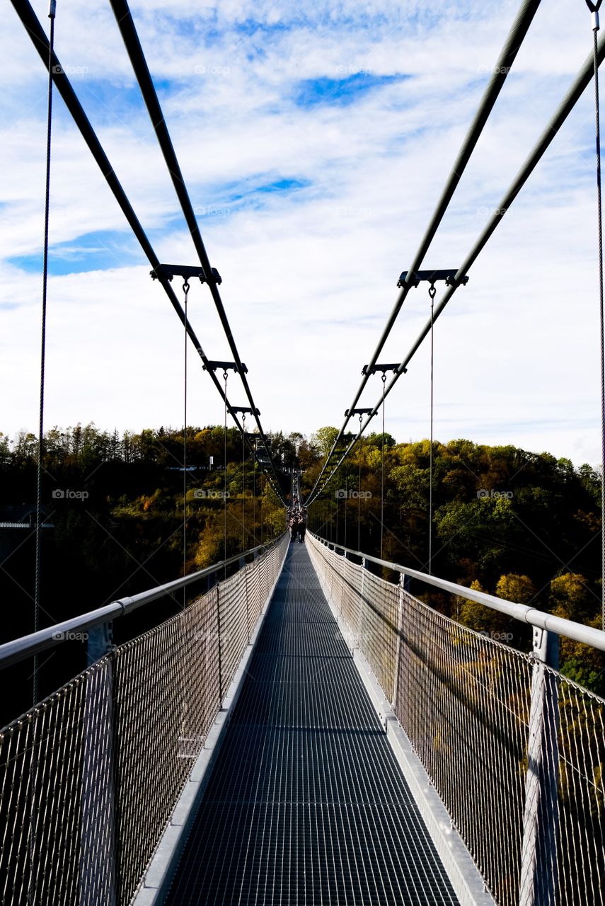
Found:
[{"label": "nearest sunlit upright metal post of the right railing", "polygon": [[559,834],[559,637],[533,630],[532,698],[527,741],[520,906],[555,906]]}]

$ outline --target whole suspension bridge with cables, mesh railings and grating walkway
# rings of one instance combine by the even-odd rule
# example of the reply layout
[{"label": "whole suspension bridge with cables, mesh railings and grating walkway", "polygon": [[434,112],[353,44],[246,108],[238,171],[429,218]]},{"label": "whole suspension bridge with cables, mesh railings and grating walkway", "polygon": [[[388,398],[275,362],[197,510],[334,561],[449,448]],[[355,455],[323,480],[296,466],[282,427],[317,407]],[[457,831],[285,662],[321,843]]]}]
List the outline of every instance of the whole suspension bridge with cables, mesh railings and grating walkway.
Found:
[{"label": "whole suspension bridge with cables, mesh railings and grating walkway", "polygon": [[[227,319],[222,278],[206,253],[127,3],[111,0],[196,265],[162,263],[151,246],[54,53],[54,4],[48,37],[27,0],[13,5],[48,68],[46,240],[56,88],[183,327],[185,426],[193,344],[226,419],[242,433],[244,462],[247,447],[285,513],[283,475]],[[379,412],[384,417],[386,397],[421,343],[432,343],[437,317],[598,77],[605,39],[598,5],[589,4],[593,52],[488,226],[461,265],[423,270],[538,5],[521,4],[418,253],[399,277],[398,301],[342,428],[306,498],[293,474],[291,503],[312,507],[370,421]],[[46,243],[42,356],[47,257]],[[183,281],[182,305],[175,277]],[[208,358],[197,339],[187,311],[192,280],[212,297],[229,361]],[[379,361],[408,293],[423,283],[430,320],[401,361]],[[436,303],[438,284],[445,291]],[[379,400],[361,407],[377,373]],[[227,392],[230,374],[244,391],[243,406]],[[254,439],[246,416],[254,420]],[[355,418],[359,431],[350,440],[346,430]],[[605,700],[558,669],[561,638],[605,651],[604,631],[433,575],[430,537],[427,572],[315,531],[303,543],[284,532],[267,545],[243,545],[235,557],[187,573],[187,431],[184,574],[41,628],[42,445],[43,368],[34,632],[0,645],[3,670],[28,661],[34,673],[32,707],[0,732],[5,906],[605,902]],[[419,599],[427,588],[507,614],[524,625],[531,650],[517,651],[432,610]],[[183,598],[176,615],[113,643],[114,622],[177,593],[187,603]],[[38,657],[73,637],[87,638],[87,669],[40,698]]]}]

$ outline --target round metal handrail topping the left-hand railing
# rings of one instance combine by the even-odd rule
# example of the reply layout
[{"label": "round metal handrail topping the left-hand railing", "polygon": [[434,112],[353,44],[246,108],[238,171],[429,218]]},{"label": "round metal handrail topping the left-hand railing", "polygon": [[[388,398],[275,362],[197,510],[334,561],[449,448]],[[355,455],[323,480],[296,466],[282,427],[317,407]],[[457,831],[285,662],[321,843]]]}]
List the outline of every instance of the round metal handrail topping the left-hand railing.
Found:
[{"label": "round metal handrail topping the left-hand railing", "polygon": [[117,601],[97,608],[97,610],[82,613],[77,617],[72,617],[70,620],[63,620],[62,622],[55,623],[53,626],[47,626],[45,629],[31,632],[29,635],[24,635],[19,639],[6,641],[3,645],[0,645],[0,670],[4,670],[5,667],[10,667],[12,664],[24,660],[25,658],[33,657],[34,654],[39,654],[40,651],[54,648],[56,645],[61,644],[62,641],[69,639],[73,633],[84,632],[95,626],[100,626],[102,623],[110,622],[110,620],[137,610],[139,607],[142,607],[143,604],[157,601],[158,598],[161,598],[166,594],[176,592],[179,588],[185,588],[187,585],[191,585],[199,579],[204,579],[206,576],[212,575],[212,573],[216,573],[218,570],[236,563],[243,557],[249,556],[250,554],[256,554],[257,551],[261,551],[264,548],[268,550],[279,542],[283,538],[283,535],[285,535],[285,532],[278,538],[274,538],[269,544],[251,547],[250,550],[245,551],[244,554],[234,554],[226,560],[220,560],[212,566],[206,566],[205,569],[199,570],[197,573],[191,573],[190,575],[182,576],[180,579],[174,579],[172,582],[157,585],[155,588],[150,588],[146,592],[139,592],[138,594],[133,594],[126,598],[119,598]]}]

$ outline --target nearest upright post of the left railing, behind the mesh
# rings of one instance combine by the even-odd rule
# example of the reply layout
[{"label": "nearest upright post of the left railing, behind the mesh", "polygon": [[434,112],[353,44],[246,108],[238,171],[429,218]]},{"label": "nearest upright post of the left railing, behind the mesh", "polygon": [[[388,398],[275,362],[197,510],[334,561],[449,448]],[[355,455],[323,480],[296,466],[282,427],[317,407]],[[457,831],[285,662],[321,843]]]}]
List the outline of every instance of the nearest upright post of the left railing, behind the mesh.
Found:
[{"label": "nearest upright post of the left railing, behind the mesh", "polygon": [[[91,629],[88,666],[113,651],[111,622]],[[115,753],[113,660],[91,670],[86,678],[82,764],[82,825],[80,906],[115,906]]]}]

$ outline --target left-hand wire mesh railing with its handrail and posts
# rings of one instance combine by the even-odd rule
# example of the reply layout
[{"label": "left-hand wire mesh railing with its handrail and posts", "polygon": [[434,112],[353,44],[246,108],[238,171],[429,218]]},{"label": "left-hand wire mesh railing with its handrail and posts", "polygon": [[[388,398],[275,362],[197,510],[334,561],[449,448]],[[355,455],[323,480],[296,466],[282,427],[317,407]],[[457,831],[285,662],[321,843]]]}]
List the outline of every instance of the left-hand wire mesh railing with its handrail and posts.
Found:
[{"label": "left-hand wire mesh railing with its handrail and posts", "polygon": [[[111,646],[0,732],[3,906],[130,902],[287,545],[284,534],[176,616]],[[0,666],[59,644],[67,632],[106,626],[237,559],[0,646]]]}]

